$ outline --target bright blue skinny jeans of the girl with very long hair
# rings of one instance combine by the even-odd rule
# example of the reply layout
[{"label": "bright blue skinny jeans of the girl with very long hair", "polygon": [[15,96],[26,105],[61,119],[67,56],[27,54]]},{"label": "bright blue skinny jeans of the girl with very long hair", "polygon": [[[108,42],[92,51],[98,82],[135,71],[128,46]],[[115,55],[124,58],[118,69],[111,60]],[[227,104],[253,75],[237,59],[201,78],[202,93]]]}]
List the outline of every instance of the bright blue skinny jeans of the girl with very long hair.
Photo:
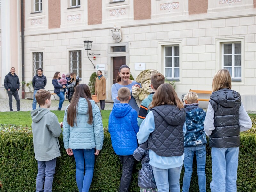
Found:
[{"label": "bright blue skinny jeans of the girl with very long hair", "polygon": [[92,177],[94,172],[94,148],[73,149],[73,154],[76,161],[76,183],[78,190],[79,192],[88,192],[92,183]]}]

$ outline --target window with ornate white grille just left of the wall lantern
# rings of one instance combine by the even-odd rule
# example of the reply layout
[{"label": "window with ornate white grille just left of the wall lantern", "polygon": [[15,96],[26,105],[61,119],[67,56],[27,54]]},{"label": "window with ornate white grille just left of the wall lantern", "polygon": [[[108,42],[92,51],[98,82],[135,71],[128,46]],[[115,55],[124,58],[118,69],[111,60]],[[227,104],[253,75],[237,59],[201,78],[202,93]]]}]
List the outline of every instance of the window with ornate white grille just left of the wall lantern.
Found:
[{"label": "window with ornate white grille just left of the wall lantern", "polygon": [[69,52],[70,73],[71,72],[76,73],[76,76],[79,76],[79,78],[82,77],[82,59],[81,58],[82,58],[81,50]]}]

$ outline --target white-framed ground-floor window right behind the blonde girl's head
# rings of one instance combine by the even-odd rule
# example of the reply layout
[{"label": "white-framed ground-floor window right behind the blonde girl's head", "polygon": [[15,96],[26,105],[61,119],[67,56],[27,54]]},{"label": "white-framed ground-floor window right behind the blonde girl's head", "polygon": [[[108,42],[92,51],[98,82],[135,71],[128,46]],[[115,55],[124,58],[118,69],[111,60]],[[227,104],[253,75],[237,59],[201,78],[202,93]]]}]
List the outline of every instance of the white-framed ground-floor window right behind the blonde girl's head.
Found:
[{"label": "white-framed ground-floor window right behind the blonde girl's head", "polygon": [[241,80],[241,42],[222,44],[222,66],[232,80]]}]

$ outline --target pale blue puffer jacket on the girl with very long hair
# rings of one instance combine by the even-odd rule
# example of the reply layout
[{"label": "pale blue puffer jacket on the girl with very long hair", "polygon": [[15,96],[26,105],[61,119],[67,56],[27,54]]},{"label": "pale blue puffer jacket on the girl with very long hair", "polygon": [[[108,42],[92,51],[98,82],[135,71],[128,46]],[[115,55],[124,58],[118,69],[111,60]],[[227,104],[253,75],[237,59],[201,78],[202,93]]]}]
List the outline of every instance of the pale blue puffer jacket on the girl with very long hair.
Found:
[{"label": "pale blue puffer jacket on the girl with very long hair", "polygon": [[68,149],[102,149],[103,145],[103,124],[98,105],[91,100],[93,123],[88,124],[88,103],[85,98],[79,98],[77,104],[76,123],[71,127],[67,122],[67,106],[63,119],[63,141],[64,148]]}]

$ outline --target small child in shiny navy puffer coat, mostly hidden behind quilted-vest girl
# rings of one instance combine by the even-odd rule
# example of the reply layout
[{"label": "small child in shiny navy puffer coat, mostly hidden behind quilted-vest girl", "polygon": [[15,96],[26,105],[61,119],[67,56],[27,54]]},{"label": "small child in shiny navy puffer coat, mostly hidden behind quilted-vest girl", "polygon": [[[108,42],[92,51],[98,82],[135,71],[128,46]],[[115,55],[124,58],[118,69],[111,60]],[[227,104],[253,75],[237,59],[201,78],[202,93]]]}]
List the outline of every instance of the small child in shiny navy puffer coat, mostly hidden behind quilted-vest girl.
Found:
[{"label": "small child in shiny navy puffer coat, mostly hidden behind quilted-vest girl", "polygon": [[153,169],[149,164],[147,142],[142,143],[133,153],[134,159],[141,160],[142,168],[138,175],[140,192],[157,192]]}]

